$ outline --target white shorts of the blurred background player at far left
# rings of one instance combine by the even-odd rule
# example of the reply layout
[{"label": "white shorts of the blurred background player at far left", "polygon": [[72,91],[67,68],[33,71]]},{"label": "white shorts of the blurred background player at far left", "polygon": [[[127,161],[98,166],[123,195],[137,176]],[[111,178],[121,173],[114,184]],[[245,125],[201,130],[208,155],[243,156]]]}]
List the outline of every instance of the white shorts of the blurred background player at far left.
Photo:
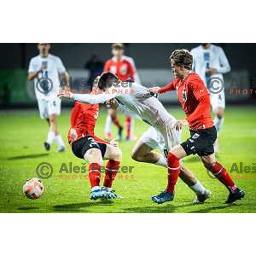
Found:
[{"label": "white shorts of the blurred background player at far left", "polygon": [[44,99],[38,98],[38,108],[41,119],[49,118],[50,115],[60,115],[61,113],[61,99],[58,97]]}]

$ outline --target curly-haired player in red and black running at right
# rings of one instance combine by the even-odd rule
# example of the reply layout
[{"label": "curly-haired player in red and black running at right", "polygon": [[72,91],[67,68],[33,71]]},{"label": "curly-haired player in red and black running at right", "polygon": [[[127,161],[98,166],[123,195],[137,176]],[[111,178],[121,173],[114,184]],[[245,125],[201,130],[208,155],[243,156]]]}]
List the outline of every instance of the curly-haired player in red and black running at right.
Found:
[{"label": "curly-haired player in red and black running at right", "polygon": [[175,128],[181,130],[184,125],[189,125],[191,137],[169,151],[166,190],[153,196],[152,201],[162,204],[173,200],[175,184],[180,174],[180,159],[190,154],[198,154],[204,166],[227,187],[230,194],[226,203],[230,204],[244,198],[244,191],[236,186],[224,166],[216,162],[213,144],[217,132],[210,113],[209,93],[198,74],[191,72],[192,54],[184,49],[175,50],[169,61],[175,79],[165,87],[151,88],[151,92],[166,93],[169,90],[177,90],[177,96],[186,114],[186,119],[178,120]]}]

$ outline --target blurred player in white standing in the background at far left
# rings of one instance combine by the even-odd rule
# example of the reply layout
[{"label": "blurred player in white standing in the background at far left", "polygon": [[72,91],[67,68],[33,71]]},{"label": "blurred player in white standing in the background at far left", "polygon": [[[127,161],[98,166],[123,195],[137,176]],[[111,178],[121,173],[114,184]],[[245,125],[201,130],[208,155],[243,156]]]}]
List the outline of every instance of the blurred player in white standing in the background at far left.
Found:
[{"label": "blurred player in white standing in the background at far left", "polygon": [[69,77],[61,59],[49,53],[50,47],[49,43],[38,43],[39,55],[29,62],[28,80],[34,80],[40,116],[49,124],[44,147],[49,151],[52,143],[56,142],[61,152],[65,151],[65,144],[57,124],[57,116],[61,113],[61,99],[57,97],[61,85],[59,76],[64,76],[67,86]]}]

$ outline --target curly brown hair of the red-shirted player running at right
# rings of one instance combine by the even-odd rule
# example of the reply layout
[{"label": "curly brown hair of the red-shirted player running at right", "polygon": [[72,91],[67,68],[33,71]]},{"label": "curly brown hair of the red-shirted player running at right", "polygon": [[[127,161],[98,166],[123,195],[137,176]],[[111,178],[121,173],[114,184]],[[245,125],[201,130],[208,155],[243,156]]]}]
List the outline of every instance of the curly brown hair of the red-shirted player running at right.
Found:
[{"label": "curly brown hair of the red-shirted player running at right", "polygon": [[172,52],[169,61],[173,61],[174,64],[182,68],[192,70],[193,55],[186,49],[179,49]]}]

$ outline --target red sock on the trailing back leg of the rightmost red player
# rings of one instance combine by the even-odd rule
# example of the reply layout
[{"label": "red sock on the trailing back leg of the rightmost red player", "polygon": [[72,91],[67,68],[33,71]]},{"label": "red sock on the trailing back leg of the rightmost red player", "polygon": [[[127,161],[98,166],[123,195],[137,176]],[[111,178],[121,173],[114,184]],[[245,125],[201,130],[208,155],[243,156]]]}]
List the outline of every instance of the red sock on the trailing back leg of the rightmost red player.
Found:
[{"label": "red sock on the trailing back leg of the rightmost red player", "polygon": [[223,183],[230,192],[235,192],[237,189],[236,184],[228,175],[226,169],[220,163],[214,163],[207,168],[212,174]]}]

